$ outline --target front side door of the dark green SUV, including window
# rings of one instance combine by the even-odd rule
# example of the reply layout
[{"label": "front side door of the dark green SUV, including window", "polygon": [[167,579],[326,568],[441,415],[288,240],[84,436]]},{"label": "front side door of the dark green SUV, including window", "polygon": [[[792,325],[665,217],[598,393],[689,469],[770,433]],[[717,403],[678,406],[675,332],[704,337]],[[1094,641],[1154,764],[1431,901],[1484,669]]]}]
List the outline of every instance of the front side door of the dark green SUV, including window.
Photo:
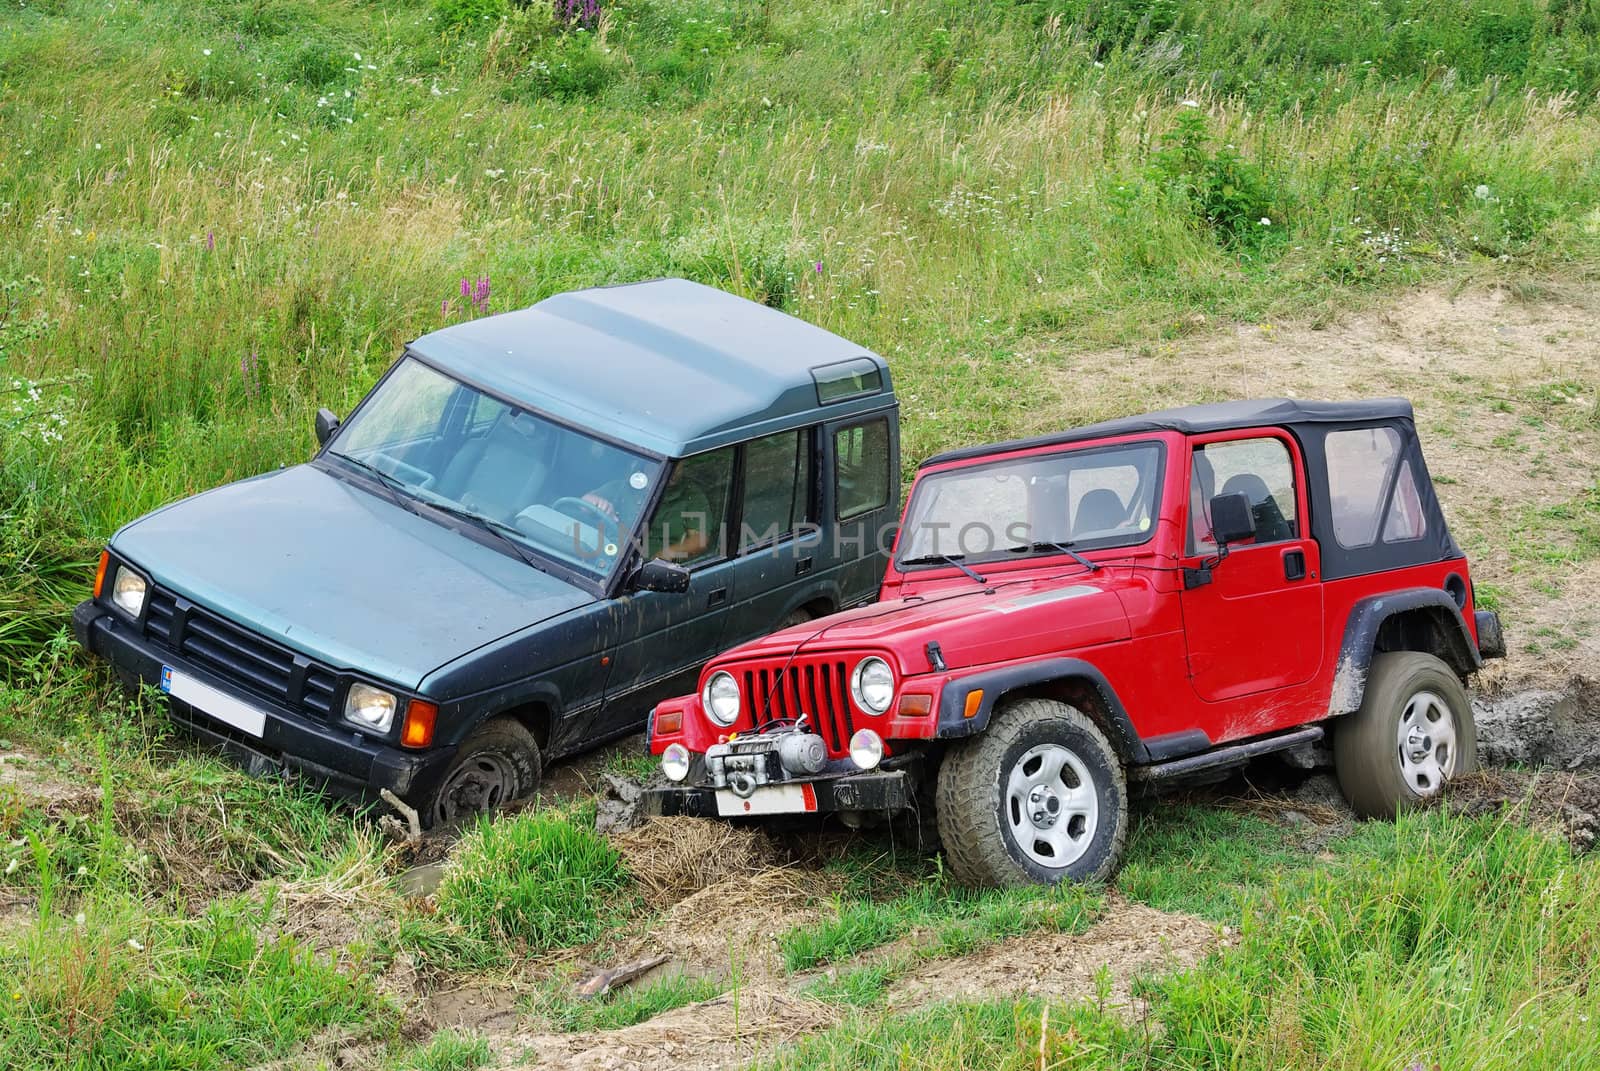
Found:
[{"label": "front side door of the dark green SUV, including window", "polygon": [[672,466],[638,552],[688,568],[690,589],[621,591],[611,600],[611,664],[595,736],[643,728],[650,708],[691,690],[701,664],[725,647],[736,580],[728,531],[733,471],[734,447]]}]

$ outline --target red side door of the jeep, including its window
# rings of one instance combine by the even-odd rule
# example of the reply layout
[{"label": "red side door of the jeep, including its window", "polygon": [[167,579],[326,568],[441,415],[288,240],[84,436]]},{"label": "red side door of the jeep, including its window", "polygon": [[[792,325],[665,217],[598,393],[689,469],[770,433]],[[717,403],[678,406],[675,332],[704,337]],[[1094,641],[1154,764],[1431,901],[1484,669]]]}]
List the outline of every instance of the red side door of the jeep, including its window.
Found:
[{"label": "red side door of the jeep, including its window", "polygon": [[[1224,554],[1211,540],[1210,501],[1232,493],[1250,499],[1256,535]],[[1266,696],[1317,674],[1323,647],[1320,556],[1306,501],[1306,466],[1285,432],[1190,440],[1184,567],[1190,578],[1203,578],[1210,565],[1210,580],[1187,581],[1182,594],[1189,680],[1200,700]]]}]

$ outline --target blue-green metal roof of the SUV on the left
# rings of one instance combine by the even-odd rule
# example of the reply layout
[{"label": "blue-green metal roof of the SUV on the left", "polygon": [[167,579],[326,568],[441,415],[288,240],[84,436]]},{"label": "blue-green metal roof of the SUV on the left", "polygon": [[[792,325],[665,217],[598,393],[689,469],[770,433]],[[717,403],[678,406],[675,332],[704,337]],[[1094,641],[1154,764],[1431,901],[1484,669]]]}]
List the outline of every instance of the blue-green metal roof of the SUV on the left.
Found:
[{"label": "blue-green metal roof of the SUV on the left", "polygon": [[512,402],[667,458],[816,419],[814,373],[829,365],[837,375],[867,373],[859,391],[845,383],[829,418],[894,402],[888,363],[877,354],[685,279],[555,295],[424,335],[411,352]]}]

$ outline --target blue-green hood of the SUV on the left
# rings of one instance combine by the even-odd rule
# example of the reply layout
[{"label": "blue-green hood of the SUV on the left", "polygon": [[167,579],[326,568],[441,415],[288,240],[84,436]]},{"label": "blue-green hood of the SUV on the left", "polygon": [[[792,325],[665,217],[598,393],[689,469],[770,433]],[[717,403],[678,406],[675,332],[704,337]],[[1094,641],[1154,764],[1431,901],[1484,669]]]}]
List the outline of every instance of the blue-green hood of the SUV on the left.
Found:
[{"label": "blue-green hood of the SUV on the left", "polygon": [[403,688],[595,599],[309,464],[173,503],[112,549],[242,626]]}]

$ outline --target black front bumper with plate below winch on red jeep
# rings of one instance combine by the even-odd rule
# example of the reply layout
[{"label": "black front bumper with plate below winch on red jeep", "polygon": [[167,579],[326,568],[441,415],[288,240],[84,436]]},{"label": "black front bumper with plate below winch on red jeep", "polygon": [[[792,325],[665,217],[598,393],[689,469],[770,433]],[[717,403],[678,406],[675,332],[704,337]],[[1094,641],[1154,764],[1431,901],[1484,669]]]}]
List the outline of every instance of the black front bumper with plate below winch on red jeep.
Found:
[{"label": "black front bumper with plate below winch on red jeep", "polygon": [[645,789],[646,815],[741,818],[762,815],[826,815],[837,812],[898,812],[910,807],[912,780],[906,770],[872,770],[846,776],[778,781],[749,796],[731,789],[667,784]]}]

